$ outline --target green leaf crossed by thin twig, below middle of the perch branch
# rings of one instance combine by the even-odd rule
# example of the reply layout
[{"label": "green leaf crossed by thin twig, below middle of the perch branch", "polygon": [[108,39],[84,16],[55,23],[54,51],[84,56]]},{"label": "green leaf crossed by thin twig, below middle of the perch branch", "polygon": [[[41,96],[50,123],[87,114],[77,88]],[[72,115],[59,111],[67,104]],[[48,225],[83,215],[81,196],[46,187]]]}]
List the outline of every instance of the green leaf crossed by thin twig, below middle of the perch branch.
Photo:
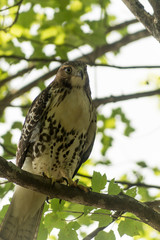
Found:
[{"label": "green leaf crossed by thin twig, below middle of the perch branch", "polygon": [[103,209],[96,210],[91,215],[91,219],[93,221],[98,221],[99,227],[105,227],[105,226],[108,226],[112,222],[112,218],[108,214],[110,214],[110,211],[103,210]]}]

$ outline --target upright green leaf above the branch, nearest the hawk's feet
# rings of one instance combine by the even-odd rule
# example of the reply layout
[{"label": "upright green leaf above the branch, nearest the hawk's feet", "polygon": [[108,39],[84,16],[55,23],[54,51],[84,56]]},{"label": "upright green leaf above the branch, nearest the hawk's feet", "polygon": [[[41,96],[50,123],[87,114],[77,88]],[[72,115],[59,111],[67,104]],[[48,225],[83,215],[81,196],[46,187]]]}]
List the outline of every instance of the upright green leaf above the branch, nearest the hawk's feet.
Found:
[{"label": "upright green leaf above the branch, nearest the hawk's feet", "polygon": [[106,186],[107,177],[105,174],[101,175],[99,172],[94,171],[91,183],[92,183],[92,190],[94,192],[100,192]]}]

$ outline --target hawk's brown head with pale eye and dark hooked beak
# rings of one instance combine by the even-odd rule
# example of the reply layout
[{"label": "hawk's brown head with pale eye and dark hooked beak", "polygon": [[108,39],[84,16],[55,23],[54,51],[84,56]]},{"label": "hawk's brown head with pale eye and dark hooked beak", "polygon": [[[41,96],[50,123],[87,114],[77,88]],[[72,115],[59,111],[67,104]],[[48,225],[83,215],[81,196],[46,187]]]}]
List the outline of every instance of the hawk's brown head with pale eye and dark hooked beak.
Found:
[{"label": "hawk's brown head with pale eye and dark hooked beak", "polygon": [[81,61],[65,62],[59,68],[55,80],[66,87],[88,87],[87,65]]}]

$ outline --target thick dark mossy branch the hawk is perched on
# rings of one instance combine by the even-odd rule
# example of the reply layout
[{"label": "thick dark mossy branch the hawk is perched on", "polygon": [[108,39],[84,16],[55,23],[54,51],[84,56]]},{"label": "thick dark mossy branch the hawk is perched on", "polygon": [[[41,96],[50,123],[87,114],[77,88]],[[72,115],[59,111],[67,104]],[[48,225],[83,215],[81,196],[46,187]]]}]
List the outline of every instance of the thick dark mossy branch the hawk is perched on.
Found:
[{"label": "thick dark mossy branch the hawk is perched on", "polygon": [[41,192],[50,198],[60,198],[73,203],[97,208],[125,211],[135,214],[142,222],[160,231],[160,214],[144,203],[126,195],[108,195],[84,191],[59,183],[51,184],[51,179],[33,175],[17,168],[0,157],[0,177],[7,178],[20,186]]}]

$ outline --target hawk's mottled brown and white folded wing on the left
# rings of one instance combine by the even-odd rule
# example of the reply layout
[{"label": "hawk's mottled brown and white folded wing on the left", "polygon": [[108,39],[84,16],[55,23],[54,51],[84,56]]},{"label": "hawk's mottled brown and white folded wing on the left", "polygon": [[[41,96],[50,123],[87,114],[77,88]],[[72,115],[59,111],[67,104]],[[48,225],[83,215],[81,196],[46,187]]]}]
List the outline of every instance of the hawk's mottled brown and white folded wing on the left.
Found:
[{"label": "hawk's mottled brown and white folded wing on the left", "polygon": [[[35,98],[26,116],[16,155],[16,163],[20,168],[25,161],[26,153],[31,142],[30,140],[31,137],[33,137],[33,132],[39,130],[40,119],[50,105],[50,88],[49,85]],[[36,135],[36,132],[34,132],[34,134]]]}]

